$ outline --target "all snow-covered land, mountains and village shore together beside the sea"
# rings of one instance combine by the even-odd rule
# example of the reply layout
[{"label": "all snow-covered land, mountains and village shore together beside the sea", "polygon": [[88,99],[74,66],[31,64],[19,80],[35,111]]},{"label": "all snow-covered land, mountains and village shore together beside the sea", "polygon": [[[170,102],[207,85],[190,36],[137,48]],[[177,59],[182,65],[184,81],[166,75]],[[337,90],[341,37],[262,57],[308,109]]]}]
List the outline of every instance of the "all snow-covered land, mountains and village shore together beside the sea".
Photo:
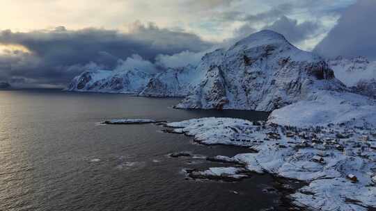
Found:
[{"label": "all snow-covered land, mountains and village shore together beside the sea", "polygon": [[[207,53],[196,67],[148,73],[86,71],[68,90],[184,96],[175,108],[271,112],[267,121],[204,118],[165,131],[201,144],[250,147],[256,153],[215,159],[243,167],[187,172],[194,178],[246,178],[246,171],[308,183],[290,198],[311,210],[376,208],[375,63],[325,60],[273,31]],[[114,124],[122,121],[113,121]],[[125,121],[127,123],[127,121]]]}]

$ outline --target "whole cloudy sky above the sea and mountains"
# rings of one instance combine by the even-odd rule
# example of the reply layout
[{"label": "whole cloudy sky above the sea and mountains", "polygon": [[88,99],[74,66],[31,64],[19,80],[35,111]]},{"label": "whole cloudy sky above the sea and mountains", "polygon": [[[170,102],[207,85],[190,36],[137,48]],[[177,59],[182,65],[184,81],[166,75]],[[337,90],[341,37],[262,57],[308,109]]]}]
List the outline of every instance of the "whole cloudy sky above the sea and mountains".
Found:
[{"label": "whole cloudy sky above the sea and mountains", "polygon": [[0,81],[63,87],[86,69],[194,63],[268,28],[330,58],[376,59],[374,0],[0,0]]}]

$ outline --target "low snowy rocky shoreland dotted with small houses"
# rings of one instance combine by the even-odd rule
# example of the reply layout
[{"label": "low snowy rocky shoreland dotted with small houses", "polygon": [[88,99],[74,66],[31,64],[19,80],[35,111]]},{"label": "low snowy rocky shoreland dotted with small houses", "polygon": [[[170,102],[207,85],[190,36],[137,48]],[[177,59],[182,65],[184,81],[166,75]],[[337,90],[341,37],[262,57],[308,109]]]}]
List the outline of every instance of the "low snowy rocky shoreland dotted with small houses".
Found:
[{"label": "low snowy rocky shoreland dotted with small houses", "polygon": [[[248,171],[308,182],[309,185],[290,195],[297,205],[311,210],[376,207],[376,151],[371,144],[376,142],[374,127],[333,124],[299,128],[214,117],[173,122],[167,126],[193,135],[194,140],[203,144],[231,144],[255,149],[257,153],[215,158],[244,164]],[[198,174],[228,176],[238,175],[239,171],[235,167],[219,167]],[[351,174],[357,182],[350,180]]]}]

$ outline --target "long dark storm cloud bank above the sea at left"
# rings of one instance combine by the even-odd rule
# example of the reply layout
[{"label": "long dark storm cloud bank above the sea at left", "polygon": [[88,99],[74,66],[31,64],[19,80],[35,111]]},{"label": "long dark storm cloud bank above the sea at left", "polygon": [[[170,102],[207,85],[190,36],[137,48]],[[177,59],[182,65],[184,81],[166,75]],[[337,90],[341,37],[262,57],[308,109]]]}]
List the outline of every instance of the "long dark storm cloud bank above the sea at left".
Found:
[{"label": "long dark storm cloud bank above the sea at left", "polygon": [[1,31],[0,44],[18,44],[30,51],[1,53],[0,80],[54,85],[68,83],[73,76],[88,68],[90,62],[111,69],[119,59],[124,60],[133,54],[154,60],[159,54],[203,51],[212,46],[191,33],[169,31],[155,24],[139,22],[133,24],[130,33],[100,28],[68,31],[63,26],[53,31],[29,33]]}]

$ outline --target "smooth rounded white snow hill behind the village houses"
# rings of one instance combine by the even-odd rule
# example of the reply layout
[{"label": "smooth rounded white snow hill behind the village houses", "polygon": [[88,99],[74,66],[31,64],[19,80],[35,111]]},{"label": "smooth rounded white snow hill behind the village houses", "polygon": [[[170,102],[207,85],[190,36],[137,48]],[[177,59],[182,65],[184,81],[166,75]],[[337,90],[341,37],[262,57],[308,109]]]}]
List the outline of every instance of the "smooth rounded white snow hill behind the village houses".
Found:
[{"label": "smooth rounded white snow hill behind the village houses", "polygon": [[376,126],[376,103],[350,92],[318,92],[309,100],[274,110],[269,121],[280,125],[312,126],[351,123]]}]

